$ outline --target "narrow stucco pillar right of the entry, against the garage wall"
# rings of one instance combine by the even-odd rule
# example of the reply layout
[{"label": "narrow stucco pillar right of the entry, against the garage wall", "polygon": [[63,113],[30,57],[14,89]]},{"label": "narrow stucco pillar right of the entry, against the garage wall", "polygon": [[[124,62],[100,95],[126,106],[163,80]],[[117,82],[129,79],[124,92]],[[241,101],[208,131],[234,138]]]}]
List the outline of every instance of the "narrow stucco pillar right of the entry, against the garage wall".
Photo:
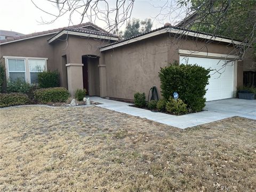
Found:
[{"label": "narrow stucco pillar right of the entry, against the garage wall", "polygon": [[100,97],[107,97],[107,76],[106,76],[106,65],[105,55],[99,58],[99,72],[100,72]]}]

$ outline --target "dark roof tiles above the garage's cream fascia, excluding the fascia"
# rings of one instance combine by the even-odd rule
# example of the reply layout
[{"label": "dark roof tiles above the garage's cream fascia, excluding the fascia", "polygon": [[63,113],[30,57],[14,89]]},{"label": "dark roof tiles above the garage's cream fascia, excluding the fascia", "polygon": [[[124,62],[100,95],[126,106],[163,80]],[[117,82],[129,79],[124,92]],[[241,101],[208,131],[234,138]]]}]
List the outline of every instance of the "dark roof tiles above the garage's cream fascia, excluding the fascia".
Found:
[{"label": "dark roof tiles above the garage's cream fascia, excluding the fascia", "polygon": [[192,33],[195,33],[195,34],[209,35],[209,36],[213,36],[213,37],[220,37],[220,38],[230,39],[231,41],[241,42],[241,41],[236,40],[236,39],[231,39],[230,37],[225,37],[225,36],[220,36],[220,35],[213,35],[213,34],[210,34],[210,33],[204,33],[202,31],[195,31],[195,30],[189,30],[189,29],[186,29],[186,28],[165,25],[163,27],[160,27],[160,28],[157,28],[157,29],[154,29],[154,30],[150,30],[150,31],[145,32],[145,33],[141,33],[139,35],[132,36],[130,38],[122,39],[121,41],[117,41],[117,42],[114,42],[114,43],[110,43],[110,44],[104,45],[101,48],[108,47],[108,46],[115,45],[115,44],[122,43],[122,42],[126,42],[126,41],[129,41],[131,39],[134,39],[134,38],[137,38],[137,37],[140,37],[140,36],[143,36],[143,35],[147,35],[147,34],[150,34],[150,33],[154,33],[155,31],[166,29],[166,28],[178,29],[178,30],[181,30],[181,31],[192,32]]}]

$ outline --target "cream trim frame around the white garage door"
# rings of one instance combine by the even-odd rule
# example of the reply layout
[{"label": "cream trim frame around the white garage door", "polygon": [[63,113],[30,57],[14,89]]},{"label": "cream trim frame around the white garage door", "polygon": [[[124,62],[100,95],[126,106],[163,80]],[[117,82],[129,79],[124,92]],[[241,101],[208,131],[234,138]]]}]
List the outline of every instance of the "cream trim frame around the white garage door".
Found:
[{"label": "cream trim frame around the white garage door", "polygon": [[199,57],[199,58],[209,58],[209,59],[221,59],[221,60],[234,60],[234,95],[236,97],[237,91],[237,55],[219,54],[219,53],[209,53],[201,51],[190,51],[190,50],[179,50],[180,56],[185,57]]}]

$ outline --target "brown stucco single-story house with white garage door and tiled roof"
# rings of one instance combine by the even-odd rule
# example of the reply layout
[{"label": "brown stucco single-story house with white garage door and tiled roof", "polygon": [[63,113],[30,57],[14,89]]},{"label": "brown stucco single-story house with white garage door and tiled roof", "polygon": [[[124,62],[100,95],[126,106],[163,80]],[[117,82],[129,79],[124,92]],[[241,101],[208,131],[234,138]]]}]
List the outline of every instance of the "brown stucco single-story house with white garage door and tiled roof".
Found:
[{"label": "brown stucco single-story house with white garage door and tiled roof", "polygon": [[234,97],[236,87],[243,84],[243,61],[230,54],[238,44],[169,25],[119,41],[92,23],[0,43],[7,78],[36,83],[38,68],[58,70],[61,86],[71,94],[86,89],[90,95],[126,100],[132,100],[135,92],[147,93],[153,85],[159,92],[159,69],[174,60],[218,70],[211,74],[207,100]]}]

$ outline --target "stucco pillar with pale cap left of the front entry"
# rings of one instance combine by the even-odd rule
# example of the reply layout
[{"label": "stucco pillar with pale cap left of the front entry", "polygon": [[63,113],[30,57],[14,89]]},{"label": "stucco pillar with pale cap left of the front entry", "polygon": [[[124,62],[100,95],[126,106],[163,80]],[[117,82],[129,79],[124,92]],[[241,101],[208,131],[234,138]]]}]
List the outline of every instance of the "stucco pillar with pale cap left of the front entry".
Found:
[{"label": "stucco pillar with pale cap left of the front entry", "polygon": [[68,75],[68,91],[72,97],[77,89],[83,89],[83,66],[82,63],[68,63],[67,75]]}]

